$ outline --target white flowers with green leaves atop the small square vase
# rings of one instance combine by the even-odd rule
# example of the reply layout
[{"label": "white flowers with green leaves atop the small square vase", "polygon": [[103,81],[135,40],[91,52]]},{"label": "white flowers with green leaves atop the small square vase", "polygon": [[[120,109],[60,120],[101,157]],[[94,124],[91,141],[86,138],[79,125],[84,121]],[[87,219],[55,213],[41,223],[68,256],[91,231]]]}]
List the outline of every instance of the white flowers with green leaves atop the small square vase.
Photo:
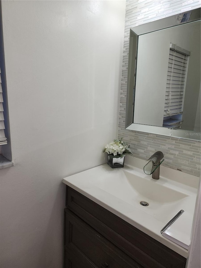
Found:
[{"label": "white flowers with green leaves atop the small square vase", "polygon": [[125,141],[122,141],[122,138],[120,140],[114,139],[114,141],[107,144],[103,152],[121,158],[125,155],[133,155],[129,145]]}]

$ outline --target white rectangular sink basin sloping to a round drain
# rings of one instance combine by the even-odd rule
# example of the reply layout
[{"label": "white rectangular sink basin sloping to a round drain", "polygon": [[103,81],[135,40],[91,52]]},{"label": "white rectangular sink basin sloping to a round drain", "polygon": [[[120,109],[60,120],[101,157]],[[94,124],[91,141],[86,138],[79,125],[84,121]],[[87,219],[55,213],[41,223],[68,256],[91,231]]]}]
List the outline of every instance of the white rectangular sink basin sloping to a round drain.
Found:
[{"label": "white rectangular sink basin sloping to a round drain", "polygon": [[[182,185],[175,187],[166,178],[152,179],[138,169],[135,172],[129,168],[121,169],[112,171],[105,177],[96,177],[95,187],[162,222],[169,221],[184,206],[185,210],[190,210],[188,204],[191,203],[192,196],[184,192]],[[141,201],[149,205],[143,206]]]}]

